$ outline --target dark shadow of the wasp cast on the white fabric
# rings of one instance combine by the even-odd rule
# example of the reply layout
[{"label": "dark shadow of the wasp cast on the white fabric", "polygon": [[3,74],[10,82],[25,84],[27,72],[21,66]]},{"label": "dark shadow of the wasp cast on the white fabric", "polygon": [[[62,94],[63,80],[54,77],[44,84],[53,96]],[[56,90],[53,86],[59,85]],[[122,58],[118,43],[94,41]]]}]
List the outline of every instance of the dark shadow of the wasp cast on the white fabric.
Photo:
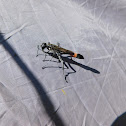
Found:
[{"label": "dark shadow of the wasp cast on the white fabric", "polygon": [[[46,54],[48,54],[52,58],[59,59],[58,56],[53,54],[53,53],[47,52]],[[73,72],[68,72],[66,75],[64,75],[66,82],[67,82],[67,77],[70,74],[76,73],[76,70],[71,66],[71,64],[77,65],[77,66],[79,66],[79,67],[81,67],[81,68],[83,68],[85,70],[89,70],[89,71],[91,71],[93,73],[100,74],[100,72],[98,70],[74,61],[71,56],[62,56],[61,55],[61,58],[63,60],[63,65],[66,67],[64,69],[69,69],[70,68],[71,70],[73,70]],[[57,63],[59,62],[60,63],[60,61],[53,61],[52,59],[51,60],[45,60],[44,59],[43,61],[51,61],[51,62],[57,62]],[[45,68],[62,68],[62,67],[54,67],[54,66],[43,66],[42,67],[42,69],[45,69]]]}]

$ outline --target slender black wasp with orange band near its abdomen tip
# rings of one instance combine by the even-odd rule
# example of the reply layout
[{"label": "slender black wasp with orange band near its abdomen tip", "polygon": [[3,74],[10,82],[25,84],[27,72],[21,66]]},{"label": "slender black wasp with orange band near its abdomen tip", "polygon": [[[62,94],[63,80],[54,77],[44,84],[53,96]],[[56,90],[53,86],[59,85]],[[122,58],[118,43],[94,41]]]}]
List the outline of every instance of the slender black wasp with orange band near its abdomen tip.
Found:
[{"label": "slender black wasp with orange band near its abdomen tip", "polygon": [[[41,47],[41,49],[39,47]],[[60,47],[59,43],[57,45],[51,44],[50,42],[42,43],[42,45],[40,45],[40,46],[38,45],[38,50],[42,50],[45,53],[44,60],[46,59],[46,56],[49,53],[52,53],[53,55],[56,55],[59,62],[61,62],[62,65],[63,65],[63,67],[62,67],[63,74],[64,74],[64,61],[62,60],[61,55],[68,54],[71,58],[75,57],[75,58],[78,58],[78,59],[84,59],[84,57],[81,54],[74,53],[73,51],[70,51],[70,50],[67,50],[65,48]],[[41,54],[38,54],[38,51],[37,51],[37,56],[38,55],[41,55]]]}]

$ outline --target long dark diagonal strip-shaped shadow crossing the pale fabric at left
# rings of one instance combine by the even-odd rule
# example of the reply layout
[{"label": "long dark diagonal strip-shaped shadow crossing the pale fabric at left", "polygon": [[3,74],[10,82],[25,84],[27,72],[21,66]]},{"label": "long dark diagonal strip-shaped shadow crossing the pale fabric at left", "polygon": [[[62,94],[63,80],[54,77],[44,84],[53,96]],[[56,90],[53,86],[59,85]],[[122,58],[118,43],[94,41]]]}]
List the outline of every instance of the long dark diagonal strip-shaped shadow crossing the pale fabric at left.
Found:
[{"label": "long dark diagonal strip-shaped shadow crossing the pale fabric at left", "polygon": [[[64,121],[61,116],[58,114],[58,110],[55,110],[55,106],[47,95],[45,88],[43,87],[43,83],[40,82],[34,73],[27,67],[25,61],[19,56],[18,52],[15,51],[13,46],[7,41],[10,37],[4,38],[4,36],[0,33],[0,45],[7,51],[8,54],[13,58],[13,61],[17,64],[17,66],[22,70],[24,75],[31,81],[31,86],[33,86],[37,92],[40,104],[43,105],[45,109],[45,113],[50,118],[55,126],[65,126]],[[60,106],[59,106],[60,107]]]}]

